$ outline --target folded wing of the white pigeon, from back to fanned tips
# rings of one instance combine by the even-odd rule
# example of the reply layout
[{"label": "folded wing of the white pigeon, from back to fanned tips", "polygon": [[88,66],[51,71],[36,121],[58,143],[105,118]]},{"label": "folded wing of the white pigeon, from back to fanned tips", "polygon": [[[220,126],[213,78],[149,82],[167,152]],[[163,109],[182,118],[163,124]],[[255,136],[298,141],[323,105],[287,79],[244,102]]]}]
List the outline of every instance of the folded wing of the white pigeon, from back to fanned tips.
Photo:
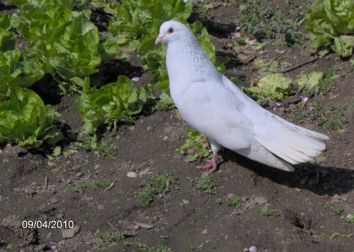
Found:
[{"label": "folded wing of the white pigeon, from back to fanned tips", "polygon": [[313,160],[326,148],[323,140],[328,136],[285,121],[261,108],[226,77],[223,81],[236,96],[243,94],[245,106],[241,113],[252,121],[256,142],[269,152],[291,164],[298,164]]}]

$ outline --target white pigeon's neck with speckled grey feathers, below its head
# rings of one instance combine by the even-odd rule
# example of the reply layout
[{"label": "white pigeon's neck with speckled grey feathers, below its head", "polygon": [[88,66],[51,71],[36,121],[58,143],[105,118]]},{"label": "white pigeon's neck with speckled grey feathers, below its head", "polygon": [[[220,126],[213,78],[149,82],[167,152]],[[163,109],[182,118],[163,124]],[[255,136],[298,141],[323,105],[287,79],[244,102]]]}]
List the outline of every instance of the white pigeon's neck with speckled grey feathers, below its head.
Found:
[{"label": "white pigeon's neck with speckled grey feathers, below its head", "polygon": [[167,45],[166,65],[170,85],[181,84],[181,80],[188,85],[219,75],[193,34]]}]

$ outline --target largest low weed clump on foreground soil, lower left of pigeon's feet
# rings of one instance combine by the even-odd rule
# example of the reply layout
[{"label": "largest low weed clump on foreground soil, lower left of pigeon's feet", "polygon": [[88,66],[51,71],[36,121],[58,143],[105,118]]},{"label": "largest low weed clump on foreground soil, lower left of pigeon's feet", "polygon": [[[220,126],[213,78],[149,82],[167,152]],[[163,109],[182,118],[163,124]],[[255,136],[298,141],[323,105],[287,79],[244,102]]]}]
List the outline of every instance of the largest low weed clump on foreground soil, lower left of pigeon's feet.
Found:
[{"label": "largest low weed clump on foreground soil, lower left of pigeon's feet", "polygon": [[136,193],[139,195],[141,203],[144,206],[149,206],[156,194],[165,194],[170,190],[171,183],[179,184],[177,177],[170,173],[150,175],[147,178],[147,182],[139,184],[140,187],[145,186],[145,188],[140,189]]}]

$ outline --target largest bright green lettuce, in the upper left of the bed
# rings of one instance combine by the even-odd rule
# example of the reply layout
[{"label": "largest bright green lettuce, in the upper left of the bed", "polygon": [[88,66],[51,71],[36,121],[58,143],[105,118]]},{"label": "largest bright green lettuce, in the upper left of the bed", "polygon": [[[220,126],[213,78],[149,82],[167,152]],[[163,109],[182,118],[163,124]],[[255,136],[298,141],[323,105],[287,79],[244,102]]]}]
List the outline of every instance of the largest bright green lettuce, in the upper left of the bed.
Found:
[{"label": "largest bright green lettuce, in the upper left of the bed", "polygon": [[98,29],[89,20],[91,11],[71,11],[73,0],[12,2],[25,18],[21,35],[32,41],[24,59],[35,59],[58,82],[96,73],[102,61],[114,59],[119,52],[112,39],[99,42]]}]

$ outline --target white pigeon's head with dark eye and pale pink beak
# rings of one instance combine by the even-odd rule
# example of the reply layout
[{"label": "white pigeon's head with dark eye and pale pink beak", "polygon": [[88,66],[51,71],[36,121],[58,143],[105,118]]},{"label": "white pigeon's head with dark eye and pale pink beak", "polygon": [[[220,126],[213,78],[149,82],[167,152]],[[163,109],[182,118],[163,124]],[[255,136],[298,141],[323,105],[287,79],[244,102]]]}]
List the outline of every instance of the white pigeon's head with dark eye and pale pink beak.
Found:
[{"label": "white pigeon's head with dark eye and pale pink beak", "polygon": [[160,42],[168,43],[173,40],[177,40],[186,31],[190,31],[187,26],[177,21],[164,22],[160,27],[160,34],[155,40],[155,43]]}]

